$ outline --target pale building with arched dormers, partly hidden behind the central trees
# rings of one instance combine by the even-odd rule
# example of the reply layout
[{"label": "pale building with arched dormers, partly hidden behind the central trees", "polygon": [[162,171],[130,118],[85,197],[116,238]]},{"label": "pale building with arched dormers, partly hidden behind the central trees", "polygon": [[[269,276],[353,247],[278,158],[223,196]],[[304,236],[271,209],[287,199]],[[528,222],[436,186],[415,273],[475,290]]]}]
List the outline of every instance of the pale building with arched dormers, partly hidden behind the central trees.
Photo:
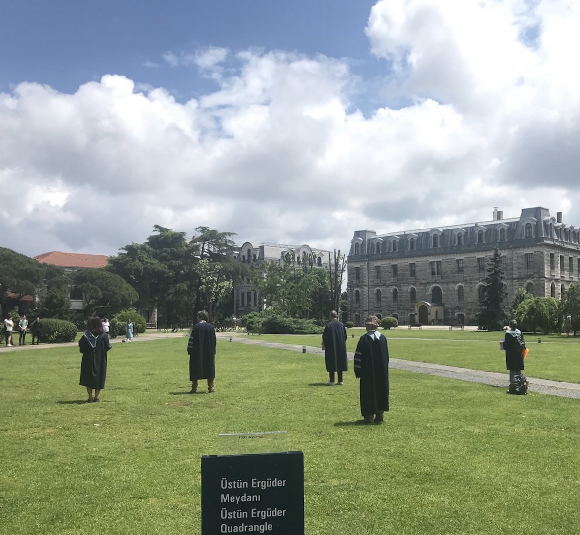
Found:
[{"label": "pale building with arched dormers, partly hidden behind the central trees", "polygon": [[[282,245],[281,243],[251,243],[245,242],[234,257],[247,264],[260,264],[263,261],[284,263],[289,257],[300,263],[311,264],[318,268],[328,268],[328,251],[313,249],[309,245]],[[263,310],[263,303],[256,287],[244,279],[234,286],[234,314],[244,316],[250,312]]]}]

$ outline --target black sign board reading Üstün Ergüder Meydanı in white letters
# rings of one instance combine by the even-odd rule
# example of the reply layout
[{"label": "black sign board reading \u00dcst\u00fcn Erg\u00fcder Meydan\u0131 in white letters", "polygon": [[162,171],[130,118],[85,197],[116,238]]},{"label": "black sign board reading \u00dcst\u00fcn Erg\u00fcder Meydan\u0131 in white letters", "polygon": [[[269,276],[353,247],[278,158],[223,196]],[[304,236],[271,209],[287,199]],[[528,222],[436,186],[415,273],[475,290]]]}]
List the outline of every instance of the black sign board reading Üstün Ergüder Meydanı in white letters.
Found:
[{"label": "black sign board reading \u00dcst\u00fcn Erg\u00fcder Meydan\u0131 in white letters", "polygon": [[304,535],[302,452],[204,455],[201,533]]}]

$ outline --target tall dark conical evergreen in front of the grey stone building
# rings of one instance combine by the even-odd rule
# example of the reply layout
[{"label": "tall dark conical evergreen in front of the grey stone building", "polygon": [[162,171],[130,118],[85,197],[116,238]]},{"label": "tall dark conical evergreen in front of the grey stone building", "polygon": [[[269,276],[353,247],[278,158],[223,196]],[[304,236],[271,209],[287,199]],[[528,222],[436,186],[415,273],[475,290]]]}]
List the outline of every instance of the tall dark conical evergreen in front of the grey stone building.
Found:
[{"label": "tall dark conical evergreen in front of the grey stone building", "polygon": [[476,316],[477,324],[486,330],[502,330],[506,322],[503,300],[507,292],[503,285],[502,257],[497,247],[491,254],[485,273],[485,290],[480,301],[481,311]]}]

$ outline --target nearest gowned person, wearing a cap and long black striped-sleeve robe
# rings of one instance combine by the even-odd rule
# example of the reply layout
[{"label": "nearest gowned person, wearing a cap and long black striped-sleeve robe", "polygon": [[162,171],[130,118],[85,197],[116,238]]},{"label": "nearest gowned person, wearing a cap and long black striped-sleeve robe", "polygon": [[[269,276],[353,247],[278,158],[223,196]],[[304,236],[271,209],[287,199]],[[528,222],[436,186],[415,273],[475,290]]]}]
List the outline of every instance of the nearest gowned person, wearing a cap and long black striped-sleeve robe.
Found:
[{"label": "nearest gowned person, wearing a cap and long black striped-sleeve robe", "polygon": [[389,410],[389,346],[378,332],[379,320],[368,316],[367,332],[358,340],[354,354],[354,373],[360,377],[360,401],[363,424],[380,424]]}]

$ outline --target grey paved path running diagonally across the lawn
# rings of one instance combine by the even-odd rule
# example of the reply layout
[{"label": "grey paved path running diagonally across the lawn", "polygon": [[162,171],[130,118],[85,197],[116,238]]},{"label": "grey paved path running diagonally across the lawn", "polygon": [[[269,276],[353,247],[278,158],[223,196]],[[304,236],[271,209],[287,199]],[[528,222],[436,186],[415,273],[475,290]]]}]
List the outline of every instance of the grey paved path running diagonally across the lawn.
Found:
[{"label": "grey paved path running diagonally across the lawn", "polygon": [[[302,352],[302,345],[270,342],[263,339],[260,340],[253,336],[240,336],[238,333],[219,333],[218,336],[220,338],[231,336],[232,341],[244,344],[255,344],[264,347],[271,347],[273,349]],[[314,347],[306,347],[306,352],[313,355],[324,355],[324,351]],[[354,359],[354,353],[349,352],[347,355],[350,361]],[[432,364],[429,362],[403,361],[401,359],[393,358],[389,359],[389,366],[400,370],[407,370],[409,372],[428,373],[430,375],[471,381],[472,383],[487,384],[492,387],[502,387],[507,389],[507,385],[509,384],[508,373],[483,372],[481,370],[472,370],[469,368],[445,366],[443,364]],[[538,379],[535,377],[528,377],[528,381],[530,382],[528,385],[528,390],[530,392],[561,396],[563,398],[580,399],[580,384],[550,381],[549,379]]]}]

